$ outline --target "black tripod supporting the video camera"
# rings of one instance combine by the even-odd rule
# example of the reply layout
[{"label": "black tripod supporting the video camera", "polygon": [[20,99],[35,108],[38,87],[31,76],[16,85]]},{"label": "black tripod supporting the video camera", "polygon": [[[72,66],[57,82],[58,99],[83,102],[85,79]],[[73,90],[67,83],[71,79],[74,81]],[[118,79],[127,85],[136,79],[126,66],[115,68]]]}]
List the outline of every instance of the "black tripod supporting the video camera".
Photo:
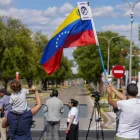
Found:
[{"label": "black tripod supporting the video camera", "polygon": [[[104,140],[103,126],[101,125],[102,119],[101,119],[101,112],[100,112],[100,104],[98,101],[99,100],[96,100],[96,98],[95,98],[95,103],[93,106],[93,110],[92,110],[92,114],[91,114],[91,118],[90,118],[90,122],[89,122],[86,140],[88,139],[88,134],[89,134],[91,122],[93,120],[93,116],[95,116],[95,122],[96,122],[96,139],[98,140],[100,138],[100,133],[101,133],[102,140]],[[97,112],[97,116],[96,116],[96,112]]]}]

